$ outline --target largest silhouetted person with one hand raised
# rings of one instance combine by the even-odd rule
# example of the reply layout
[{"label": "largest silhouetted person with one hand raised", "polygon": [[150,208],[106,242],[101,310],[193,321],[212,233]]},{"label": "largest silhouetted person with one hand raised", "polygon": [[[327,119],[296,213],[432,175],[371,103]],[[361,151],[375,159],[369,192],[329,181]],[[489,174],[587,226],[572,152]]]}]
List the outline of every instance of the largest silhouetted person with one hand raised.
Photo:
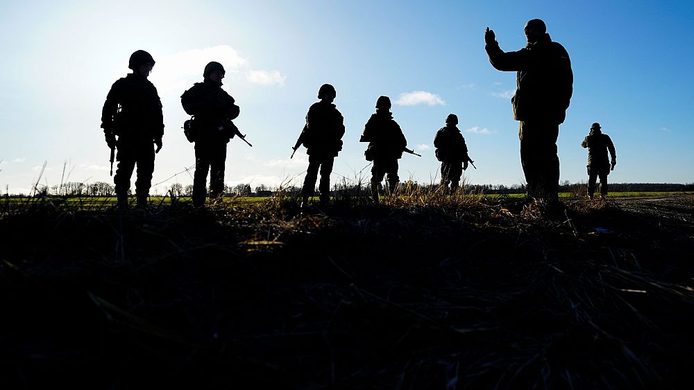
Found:
[{"label": "largest silhouetted person with one hand raised", "polygon": [[552,42],[545,29],[540,19],[528,21],[527,46],[519,51],[504,53],[489,27],[484,41],[493,67],[518,72],[511,104],[514,119],[521,122],[518,137],[527,195],[555,201],[559,190],[557,136],[573,94],[573,72],[564,46]]}]

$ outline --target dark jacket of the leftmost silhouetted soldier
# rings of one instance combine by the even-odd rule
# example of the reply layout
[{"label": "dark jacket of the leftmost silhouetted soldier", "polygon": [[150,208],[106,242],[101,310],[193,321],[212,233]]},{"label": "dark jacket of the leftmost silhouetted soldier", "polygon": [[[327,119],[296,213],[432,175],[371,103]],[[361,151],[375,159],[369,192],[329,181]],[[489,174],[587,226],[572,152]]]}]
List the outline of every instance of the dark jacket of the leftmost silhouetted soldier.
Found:
[{"label": "dark jacket of the leftmost silhouetted soldier", "polygon": [[162,138],[162,100],[152,82],[135,73],[114,82],[101,109],[101,128],[124,139]]}]

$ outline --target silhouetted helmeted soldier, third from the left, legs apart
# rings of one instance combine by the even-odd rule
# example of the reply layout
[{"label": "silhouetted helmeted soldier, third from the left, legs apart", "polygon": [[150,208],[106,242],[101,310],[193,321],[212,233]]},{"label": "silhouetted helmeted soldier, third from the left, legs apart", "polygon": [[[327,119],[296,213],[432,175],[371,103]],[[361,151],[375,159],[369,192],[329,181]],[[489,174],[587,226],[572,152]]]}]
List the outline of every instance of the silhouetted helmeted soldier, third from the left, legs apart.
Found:
[{"label": "silhouetted helmeted soldier, third from the left, legs apart", "polygon": [[301,189],[301,207],[308,206],[308,198],[316,188],[319,169],[321,181],[318,185],[321,203],[330,201],[330,174],[335,157],[342,150],[342,136],[345,134],[344,118],[332,102],[337,97],[335,87],[323,84],[318,90],[321,101],[314,103],[306,114],[306,124],[294,145],[296,151],[301,144],[308,154],[308,169]]}]

